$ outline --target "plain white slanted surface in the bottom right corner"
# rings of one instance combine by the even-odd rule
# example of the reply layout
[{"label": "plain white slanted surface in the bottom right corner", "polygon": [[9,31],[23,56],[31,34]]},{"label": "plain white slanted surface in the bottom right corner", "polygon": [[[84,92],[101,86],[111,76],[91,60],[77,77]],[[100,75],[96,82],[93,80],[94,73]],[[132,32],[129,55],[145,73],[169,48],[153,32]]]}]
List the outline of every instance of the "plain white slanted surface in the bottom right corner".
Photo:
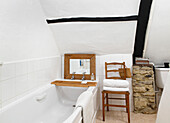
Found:
[{"label": "plain white slanted surface in the bottom right corner", "polygon": [[165,84],[162,97],[160,100],[156,123],[169,123],[170,122],[170,117],[169,117],[170,89],[169,87],[170,87],[170,72],[168,74],[167,82]]}]

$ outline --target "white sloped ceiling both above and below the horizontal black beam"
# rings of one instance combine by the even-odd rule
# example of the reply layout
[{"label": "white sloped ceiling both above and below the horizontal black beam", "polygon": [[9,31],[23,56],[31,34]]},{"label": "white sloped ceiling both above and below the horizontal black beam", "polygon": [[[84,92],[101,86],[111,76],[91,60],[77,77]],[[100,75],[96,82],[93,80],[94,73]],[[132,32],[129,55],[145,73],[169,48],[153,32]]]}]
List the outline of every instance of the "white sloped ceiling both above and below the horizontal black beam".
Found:
[{"label": "white sloped ceiling both above and below the horizontal black beam", "polygon": [[[41,0],[47,19],[137,15],[140,0]],[[136,21],[50,24],[61,54],[132,54]]]}]

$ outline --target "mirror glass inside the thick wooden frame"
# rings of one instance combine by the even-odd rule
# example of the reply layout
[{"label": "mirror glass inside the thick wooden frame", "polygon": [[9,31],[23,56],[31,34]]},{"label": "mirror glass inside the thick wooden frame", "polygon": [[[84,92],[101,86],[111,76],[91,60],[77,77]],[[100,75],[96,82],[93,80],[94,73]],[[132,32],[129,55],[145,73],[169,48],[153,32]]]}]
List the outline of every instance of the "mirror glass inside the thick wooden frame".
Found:
[{"label": "mirror glass inside the thick wooden frame", "polygon": [[90,59],[70,59],[70,74],[90,74]]}]

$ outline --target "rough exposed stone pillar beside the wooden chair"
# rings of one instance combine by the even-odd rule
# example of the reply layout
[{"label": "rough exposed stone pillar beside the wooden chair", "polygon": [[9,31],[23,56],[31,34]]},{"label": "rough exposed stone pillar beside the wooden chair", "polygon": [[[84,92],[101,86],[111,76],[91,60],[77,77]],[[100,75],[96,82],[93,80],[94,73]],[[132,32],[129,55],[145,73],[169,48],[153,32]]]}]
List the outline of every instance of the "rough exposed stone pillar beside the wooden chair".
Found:
[{"label": "rough exposed stone pillar beside the wooden chair", "polygon": [[153,66],[133,66],[134,112],[156,113]]}]

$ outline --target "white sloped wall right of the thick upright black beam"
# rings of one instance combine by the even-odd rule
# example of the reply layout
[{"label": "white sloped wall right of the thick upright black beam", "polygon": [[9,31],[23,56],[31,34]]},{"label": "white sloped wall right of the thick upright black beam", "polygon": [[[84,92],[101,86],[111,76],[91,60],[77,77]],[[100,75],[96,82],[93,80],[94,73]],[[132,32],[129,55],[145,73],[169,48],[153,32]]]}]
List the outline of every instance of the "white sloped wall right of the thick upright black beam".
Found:
[{"label": "white sloped wall right of the thick upright black beam", "polygon": [[145,57],[155,64],[170,62],[170,1],[153,0]]}]

